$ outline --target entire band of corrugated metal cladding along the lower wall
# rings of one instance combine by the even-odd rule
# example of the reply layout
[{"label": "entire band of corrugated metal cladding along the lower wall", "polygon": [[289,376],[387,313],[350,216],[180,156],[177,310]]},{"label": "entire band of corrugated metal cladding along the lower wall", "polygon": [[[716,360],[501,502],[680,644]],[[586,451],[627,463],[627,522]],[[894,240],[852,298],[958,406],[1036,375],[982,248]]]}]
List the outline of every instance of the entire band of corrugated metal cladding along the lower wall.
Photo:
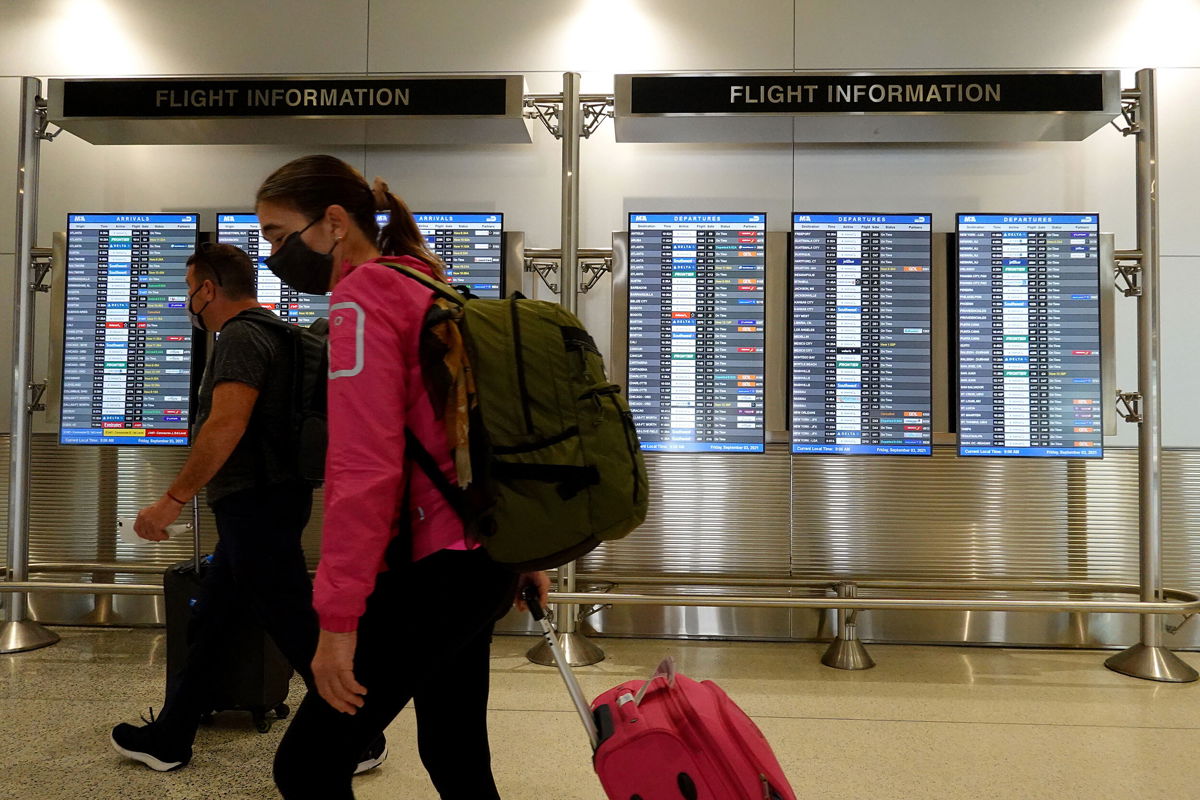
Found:
[{"label": "entire band of corrugated metal cladding along the lower wall", "polygon": [[[0,437],[5,473],[7,444]],[[190,541],[115,540],[116,516],[158,497],[185,452],[60,447],[52,435],[36,435],[32,452],[35,561],[164,567],[190,555]],[[654,491],[647,523],[586,558],[581,575],[1138,579],[1133,450],[1112,449],[1094,462],[960,459],[946,447],[932,458],[793,458],[773,445],[762,456],[650,453],[647,464]],[[5,481],[0,513],[6,500]],[[1200,588],[1200,450],[1164,453],[1163,500],[1166,583]],[[0,529],[6,521],[0,516]],[[318,492],[304,537],[311,565],[320,522]],[[208,549],[215,528],[206,510],[202,525]]]}]

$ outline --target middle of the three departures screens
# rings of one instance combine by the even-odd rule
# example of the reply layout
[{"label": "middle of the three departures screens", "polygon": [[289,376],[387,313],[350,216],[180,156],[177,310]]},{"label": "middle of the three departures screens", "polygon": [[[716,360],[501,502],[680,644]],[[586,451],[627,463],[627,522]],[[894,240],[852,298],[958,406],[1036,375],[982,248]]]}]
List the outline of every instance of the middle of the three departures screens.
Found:
[{"label": "middle of the three departures screens", "polygon": [[792,452],[932,455],[928,213],[792,216]]}]

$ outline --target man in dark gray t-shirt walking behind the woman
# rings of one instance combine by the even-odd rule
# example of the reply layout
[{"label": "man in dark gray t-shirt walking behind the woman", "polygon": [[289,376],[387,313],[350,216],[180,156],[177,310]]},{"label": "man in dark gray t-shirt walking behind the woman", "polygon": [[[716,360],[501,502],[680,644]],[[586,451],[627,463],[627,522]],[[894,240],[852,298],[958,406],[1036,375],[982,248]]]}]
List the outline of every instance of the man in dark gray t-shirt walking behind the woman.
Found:
[{"label": "man in dark gray t-shirt walking behind the woman", "polygon": [[[200,381],[187,463],[162,498],[142,510],[134,530],[166,540],[167,525],[206,487],[220,541],[193,607],[187,663],[168,686],[162,711],[149,724],[121,723],[112,733],[118,752],[160,771],[191,760],[197,726],[214,710],[228,632],[241,618],[256,618],[310,685],[318,630],[300,547],[312,488],[294,467],[293,337],[259,305],[246,253],[202,246],[187,266],[192,323],[220,335]],[[385,754],[380,739],[360,771]]]}]

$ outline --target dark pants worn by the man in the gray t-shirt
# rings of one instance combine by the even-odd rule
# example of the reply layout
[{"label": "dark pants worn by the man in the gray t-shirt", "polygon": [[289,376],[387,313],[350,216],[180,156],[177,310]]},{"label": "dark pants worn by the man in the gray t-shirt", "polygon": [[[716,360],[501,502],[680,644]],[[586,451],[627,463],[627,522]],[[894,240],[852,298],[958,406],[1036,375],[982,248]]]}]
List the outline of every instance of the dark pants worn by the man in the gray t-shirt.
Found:
[{"label": "dark pants worn by the man in the gray t-shirt", "polygon": [[312,512],[306,483],[248,489],[212,505],[220,540],[188,624],[187,663],[158,715],[176,745],[196,739],[200,716],[212,710],[215,663],[233,621],[251,614],[292,667],[312,685],[317,615],[300,535]]}]

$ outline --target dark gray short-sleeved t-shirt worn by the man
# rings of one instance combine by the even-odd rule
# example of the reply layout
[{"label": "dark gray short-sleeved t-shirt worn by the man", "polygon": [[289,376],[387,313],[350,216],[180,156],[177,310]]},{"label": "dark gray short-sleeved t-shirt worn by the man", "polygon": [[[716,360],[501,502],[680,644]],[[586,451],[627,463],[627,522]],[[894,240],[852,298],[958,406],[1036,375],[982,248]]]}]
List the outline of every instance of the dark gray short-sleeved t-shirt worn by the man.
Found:
[{"label": "dark gray short-sleeved t-shirt worn by the man", "polygon": [[289,419],[293,405],[292,344],[287,331],[254,323],[254,315],[274,317],[265,308],[250,308],[226,323],[200,380],[196,432],[212,410],[212,389],[217,384],[233,380],[258,390],[246,432],[209,481],[210,505],[234,492],[296,477],[292,467],[295,445]]}]

